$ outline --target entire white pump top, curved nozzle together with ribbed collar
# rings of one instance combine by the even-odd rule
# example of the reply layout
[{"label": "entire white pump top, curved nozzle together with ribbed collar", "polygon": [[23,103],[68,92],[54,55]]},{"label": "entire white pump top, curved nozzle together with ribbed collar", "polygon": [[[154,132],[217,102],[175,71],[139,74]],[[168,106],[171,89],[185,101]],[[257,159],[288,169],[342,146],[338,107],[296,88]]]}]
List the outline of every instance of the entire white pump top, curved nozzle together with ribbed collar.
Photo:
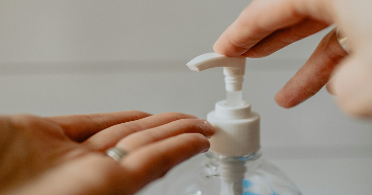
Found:
[{"label": "entire white pump top, curved nozzle together with ribbed collar", "polygon": [[[191,60],[187,66],[194,71],[224,67],[226,91],[242,90],[245,57],[206,53]],[[216,128],[215,135],[209,139],[210,150],[230,157],[253,154],[260,148],[260,116],[251,112],[248,102],[241,101],[241,93],[237,94],[240,94],[240,101],[236,105],[230,106],[226,100],[219,101],[215,110],[207,115],[207,120]]]}]

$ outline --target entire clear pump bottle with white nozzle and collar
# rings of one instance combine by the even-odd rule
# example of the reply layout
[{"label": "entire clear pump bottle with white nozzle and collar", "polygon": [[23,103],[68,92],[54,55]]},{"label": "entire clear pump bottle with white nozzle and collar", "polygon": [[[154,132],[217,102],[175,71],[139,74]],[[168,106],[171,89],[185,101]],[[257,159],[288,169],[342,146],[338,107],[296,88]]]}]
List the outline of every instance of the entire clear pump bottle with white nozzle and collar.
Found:
[{"label": "entire clear pump bottle with white nozzle and collar", "polygon": [[242,100],[245,57],[206,53],[187,63],[202,71],[224,67],[227,99],[215,104],[207,120],[216,133],[206,154],[177,167],[164,181],[166,195],[301,195],[273,164],[261,158],[260,116]]}]

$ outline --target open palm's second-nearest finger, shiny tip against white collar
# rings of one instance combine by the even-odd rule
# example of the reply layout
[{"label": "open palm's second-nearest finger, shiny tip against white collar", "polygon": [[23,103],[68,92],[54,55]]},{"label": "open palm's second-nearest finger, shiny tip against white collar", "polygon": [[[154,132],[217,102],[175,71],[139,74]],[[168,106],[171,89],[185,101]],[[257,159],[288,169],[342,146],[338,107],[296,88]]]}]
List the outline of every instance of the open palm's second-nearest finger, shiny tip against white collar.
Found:
[{"label": "open palm's second-nearest finger, shiny tip against white collar", "polygon": [[215,129],[205,119],[181,119],[162,126],[132,133],[119,141],[116,147],[123,148],[129,152],[141,146],[182,133],[201,133],[209,138],[215,133]]}]

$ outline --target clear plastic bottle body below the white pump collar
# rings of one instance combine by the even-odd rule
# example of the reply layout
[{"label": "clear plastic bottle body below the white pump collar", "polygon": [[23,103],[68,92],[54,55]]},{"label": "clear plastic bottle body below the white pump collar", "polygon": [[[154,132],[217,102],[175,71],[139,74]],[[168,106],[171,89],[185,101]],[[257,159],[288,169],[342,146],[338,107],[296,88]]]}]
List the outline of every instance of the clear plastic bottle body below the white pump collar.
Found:
[{"label": "clear plastic bottle body below the white pump collar", "polygon": [[165,195],[301,195],[262,152],[225,157],[200,154],[171,171],[164,180]]}]

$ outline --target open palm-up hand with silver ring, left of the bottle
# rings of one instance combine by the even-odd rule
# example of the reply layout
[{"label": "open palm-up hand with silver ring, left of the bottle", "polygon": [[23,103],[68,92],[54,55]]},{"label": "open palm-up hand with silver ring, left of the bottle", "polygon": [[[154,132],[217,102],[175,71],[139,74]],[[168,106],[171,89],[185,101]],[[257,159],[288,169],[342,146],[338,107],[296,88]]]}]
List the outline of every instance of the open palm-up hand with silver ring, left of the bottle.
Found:
[{"label": "open palm-up hand with silver ring, left of the bottle", "polygon": [[[134,194],[205,152],[214,128],[181,113],[0,117],[0,194]],[[128,152],[117,163],[104,152]]]}]

